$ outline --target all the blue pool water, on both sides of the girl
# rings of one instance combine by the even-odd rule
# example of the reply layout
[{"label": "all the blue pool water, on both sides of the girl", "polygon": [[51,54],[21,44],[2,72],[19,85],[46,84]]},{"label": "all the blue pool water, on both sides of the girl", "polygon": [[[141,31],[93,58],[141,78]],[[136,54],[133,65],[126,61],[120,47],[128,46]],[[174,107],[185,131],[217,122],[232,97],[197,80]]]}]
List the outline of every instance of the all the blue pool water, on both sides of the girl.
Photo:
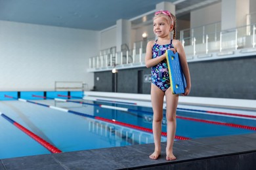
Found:
[{"label": "all the blue pool water, on both sides of the girl", "polygon": [[[53,95],[53,97],[56,96]],[[109,120],[117,120],[118,122],[135,126],[152,128],[152,108],[150,107],[138,107],[125,103],[116,104],[104,101],[83,101],[93,105],[57,102],[44,99],[36,101],[46,105],[74,110],[83,114],[107,118]],[[131,111],[125,112],[115,109],[105,109],[96,105],[125,107],[131,109]],[[18,122],[18,124],[21,124],[39,137],[45,139],[45,141],[53,144],[62,150],[62,152],[154,142],[152,133],[95,120],[85,116],[78,116],[61,110],[42,107],[33,103],[24,103],[16,100],[1,101],[0,112],[3,112],[14,121]],[[255,127],[256,125],[255,119],[197,114],[195,112],[185,111],[177,111],[177,115],[186,118],[196,117],[200,120],[228,122],[246,126]],[[51,153],[41,146],[41,144],[37,143],[20,131],[20,129],[5,120],[2,116],[0,116],[0,125],[0,158]],[[163,131],[166,131],[165,120],[163,120]],[[254,132],[254,130],[249,129],[177,118],[176,135],[181,137],[199,138]],[[162,137],[162,141],[166,141],[166,138]]]}]

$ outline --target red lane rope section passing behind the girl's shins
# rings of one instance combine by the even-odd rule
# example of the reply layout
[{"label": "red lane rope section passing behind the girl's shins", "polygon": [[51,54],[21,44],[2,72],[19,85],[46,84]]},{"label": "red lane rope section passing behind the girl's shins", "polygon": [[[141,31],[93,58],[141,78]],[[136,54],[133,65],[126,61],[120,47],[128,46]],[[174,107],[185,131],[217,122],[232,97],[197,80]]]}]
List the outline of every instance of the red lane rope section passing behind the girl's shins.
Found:
[{"label": "red lane rope section passing behind the girl's shins", "polygon": [[[141,131],[146,131],[146,132],[149,132],[149,133],[153,133],[152,129],[149,129],[149,128],[146,128],[146,127],[140,127],[140,126],[135,126],[135,125],[132,125],[132,124],[127,124],[127,123],[123,123],[123,122],[118,122],[116,120],[110,120],[110,119],[107,119],[107,118],[100,118],[98,116],[95,116],[95,119],[97,120],[102,120],[104,122],[110,122],[112,124],[117,124],[117,125],[121,125],[121,126],[126,126],[126,127],[131,127],[133,129],[139,129]],[[163,136],[167,136],[167,133],[166,132],[162,132],[161,135]],[[189,137],[181,137],[181,136],[175,136],[175,139],[179,139],[179,140],[188,140],[190,139]]]}]

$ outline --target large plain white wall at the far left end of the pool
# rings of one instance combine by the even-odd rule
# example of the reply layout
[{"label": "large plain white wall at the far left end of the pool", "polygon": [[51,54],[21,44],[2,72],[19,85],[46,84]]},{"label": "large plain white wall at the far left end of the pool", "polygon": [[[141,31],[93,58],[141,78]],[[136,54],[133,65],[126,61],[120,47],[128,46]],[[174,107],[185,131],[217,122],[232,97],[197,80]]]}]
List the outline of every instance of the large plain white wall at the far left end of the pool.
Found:
[{"label": "large plain white wall at the far left end of the pool", "polygon": [[54,81],[83,81],[99,32],[0,21],[0,91],[54,90]]}]

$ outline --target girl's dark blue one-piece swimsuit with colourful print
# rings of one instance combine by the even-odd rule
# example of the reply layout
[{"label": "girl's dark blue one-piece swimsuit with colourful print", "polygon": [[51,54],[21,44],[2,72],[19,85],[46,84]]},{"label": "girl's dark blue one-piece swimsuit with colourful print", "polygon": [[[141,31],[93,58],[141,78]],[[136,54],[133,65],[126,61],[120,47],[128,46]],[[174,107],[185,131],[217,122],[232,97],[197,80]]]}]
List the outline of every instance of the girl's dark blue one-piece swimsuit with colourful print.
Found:
[{"label": "girl's dark blue one-piece swimsuit with colourful print", "polygon": [[[156,42],[157,41],[158,40],[156,40]],[[159,56],[165,54],[165,50],[167,50],[168,47],[174,48],[172,41],[173,40],[171,39],[171,43],[165,45],[160,45],[155,42],[152,48],[152,58],[158,58]],[[158,86],[158,88],[160,88],[163,92],[165,92],[171,86],[166,59],[163,59],[163,61],[152,67],[151,77],[152,83]]]}]

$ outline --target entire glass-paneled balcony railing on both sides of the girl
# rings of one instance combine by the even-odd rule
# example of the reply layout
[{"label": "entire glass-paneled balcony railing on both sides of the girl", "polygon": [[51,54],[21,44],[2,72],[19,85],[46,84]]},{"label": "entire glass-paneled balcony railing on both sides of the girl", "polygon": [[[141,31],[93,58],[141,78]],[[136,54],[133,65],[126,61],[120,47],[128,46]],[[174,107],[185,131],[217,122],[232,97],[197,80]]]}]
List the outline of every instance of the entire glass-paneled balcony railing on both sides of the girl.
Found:
[{"label": "entire glass-paneled balcony railing on both sides of the girl", "polygon": [[[255,25],[244,25],[235,29],[220,31],[219,22],[194,29],[182,30],[181,39],[188,60],[200,59],[203,55],[216,52],[234,51],[242,48],[255,48]],[[213,27],[211,29],[211,27]],[[207,31],[206,31],[207,30]],[[188,33],[189,32],[189,33]],[[106,67],[125,67],[127,65],[144,65],[146,42],[135,42],[133,49],[115,54],[105,54],[89,58],[90,69]],[[114,61],[112,61],[114,58]]]}]

